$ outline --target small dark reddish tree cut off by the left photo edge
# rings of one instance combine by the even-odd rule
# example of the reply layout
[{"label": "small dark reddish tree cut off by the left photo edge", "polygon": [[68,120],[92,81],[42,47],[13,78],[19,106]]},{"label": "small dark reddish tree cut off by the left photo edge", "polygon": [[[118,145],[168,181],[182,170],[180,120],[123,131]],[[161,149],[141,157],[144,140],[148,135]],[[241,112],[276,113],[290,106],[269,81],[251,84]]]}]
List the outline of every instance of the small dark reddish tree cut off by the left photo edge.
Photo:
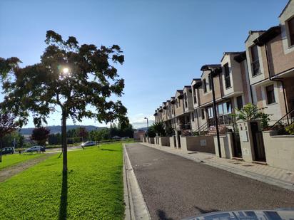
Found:
[{"label": "small dark reddish tree cut off by the left photo edge", "polygon": [[3,137],[16,130],[18,124],[15,121],[16,117],[9,113],[0,112],[0,162],[2,162],[2,143]]}]

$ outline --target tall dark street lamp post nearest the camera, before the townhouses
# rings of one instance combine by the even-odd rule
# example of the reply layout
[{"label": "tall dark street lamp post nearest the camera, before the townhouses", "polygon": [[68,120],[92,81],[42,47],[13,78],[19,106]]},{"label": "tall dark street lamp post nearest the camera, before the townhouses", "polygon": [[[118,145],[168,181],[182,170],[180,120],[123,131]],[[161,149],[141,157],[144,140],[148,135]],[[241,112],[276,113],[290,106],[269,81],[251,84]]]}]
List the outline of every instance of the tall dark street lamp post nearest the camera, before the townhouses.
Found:
[{"label": "tall dark street lamp post nearest the camera, before the townhouses", "polygon": [[206,71],[206,70],[211,71],[211,73],[208,75],[208,77],[211,79],[211,90],[212,90],[212,93],[213,93],[213,117],[214,117],[214,120],[216,122],[216,138],[218,140],[218,155],[219,155],[219,157],[221,157],[220,132],[218,130],[218,117],[217,117],[217,111],[216,111],[216,93],[215,93],[215,90],[214,90],[214,82],[213,82],[213,75],[216,75],[218,72],[220,73],[221,69],[220,70],[213,70],[213,69],[209,68],[208,66],[203,66],[201,68],[201,70],[203,70],[203,71]]}]

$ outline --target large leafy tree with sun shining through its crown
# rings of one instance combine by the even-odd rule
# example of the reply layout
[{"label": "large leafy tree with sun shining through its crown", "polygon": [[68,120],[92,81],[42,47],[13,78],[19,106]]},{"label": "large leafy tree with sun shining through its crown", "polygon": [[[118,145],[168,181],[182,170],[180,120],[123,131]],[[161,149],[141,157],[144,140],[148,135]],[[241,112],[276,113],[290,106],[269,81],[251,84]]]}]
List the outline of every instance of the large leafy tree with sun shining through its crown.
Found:
[{"label": "large leafy tree with sun shining through its crown", "polygon": [[63,170],[67,171],[66,119],[74,122],[83,117],[98,122],[125,121],[126,108],[111,95],[123,94],[124,81],[119,78],[116,63],[124,56],[117,45],[79,45],[75,37],[64,40],[54,31],[47,31],[47,47],[41,62],[20,68],[18,58],[0,58],[3,89],[6,96],[2,109],[19,116],[20,125],[26,124],[29,113],[35,125],[46,123],[46,117],[61,110]]}]

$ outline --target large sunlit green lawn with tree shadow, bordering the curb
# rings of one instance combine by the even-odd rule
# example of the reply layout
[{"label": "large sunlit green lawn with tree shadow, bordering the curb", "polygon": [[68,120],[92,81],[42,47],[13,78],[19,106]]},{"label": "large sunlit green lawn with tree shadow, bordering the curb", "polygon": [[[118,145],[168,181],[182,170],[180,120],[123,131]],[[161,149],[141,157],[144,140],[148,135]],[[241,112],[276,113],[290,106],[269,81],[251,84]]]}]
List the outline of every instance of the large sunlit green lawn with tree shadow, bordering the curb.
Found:
[{"label": "large sunlit green lawn with tree shadow, bordering the curb", "polygon": [[121,144],[54,155],[0,183],[0,219],[123,219]]}]

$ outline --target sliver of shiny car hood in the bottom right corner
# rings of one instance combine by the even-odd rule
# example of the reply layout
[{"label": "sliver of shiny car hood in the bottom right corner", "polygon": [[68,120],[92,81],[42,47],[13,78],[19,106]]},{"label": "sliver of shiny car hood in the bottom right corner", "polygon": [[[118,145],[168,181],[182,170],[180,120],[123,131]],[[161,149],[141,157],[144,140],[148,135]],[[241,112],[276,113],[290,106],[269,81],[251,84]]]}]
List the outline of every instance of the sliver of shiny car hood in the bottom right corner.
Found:
[{"label": "sliver of shiny car hood in the bottom right corner", "polygon": [[274,210],[216,211],[202,214],[200,216],[188,217],[183,220],[290,220],[293,218],[294,208]]}]

